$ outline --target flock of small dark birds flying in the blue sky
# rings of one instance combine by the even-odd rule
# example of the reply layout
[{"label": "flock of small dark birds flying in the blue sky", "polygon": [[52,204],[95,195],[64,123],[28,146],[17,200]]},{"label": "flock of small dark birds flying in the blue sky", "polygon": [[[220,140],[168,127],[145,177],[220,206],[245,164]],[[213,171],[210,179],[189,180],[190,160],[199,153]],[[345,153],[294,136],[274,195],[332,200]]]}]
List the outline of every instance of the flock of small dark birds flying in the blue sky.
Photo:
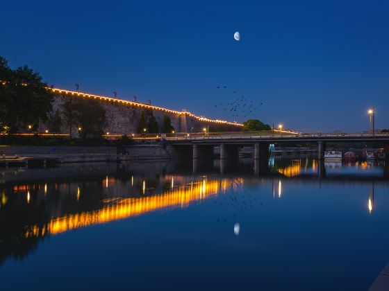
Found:
[{"label": "flock of small dark birds flying in the blue sky", "polygon": [[[226,85],[218,85],[217,89],[227,89]],[[234,94],[233,100],[230,100],[226,103],[217,103],[213,107],[219,107],[224,109],[227,114],[231,114],[231,118],[247,118],[250,116],[255,116],[260,112],[260,106],[263,105],[263,102],[253,100],[246,96],[240,96],[238,91],[233,90],[232,94]]]}]

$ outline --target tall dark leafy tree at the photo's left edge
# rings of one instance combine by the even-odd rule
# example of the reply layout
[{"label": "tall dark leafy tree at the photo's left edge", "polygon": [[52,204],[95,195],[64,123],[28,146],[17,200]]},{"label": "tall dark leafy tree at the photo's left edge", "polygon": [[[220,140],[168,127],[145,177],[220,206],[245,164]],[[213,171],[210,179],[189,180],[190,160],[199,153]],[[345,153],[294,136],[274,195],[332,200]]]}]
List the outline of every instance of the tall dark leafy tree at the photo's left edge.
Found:
[{"label": "tall dark leafy tree at the photo's left edge", "polygon": [[0,57],[0,116],[2,130],[25,130],[47,121],[54,93],[39,73],[27,66],[13,70]]}]

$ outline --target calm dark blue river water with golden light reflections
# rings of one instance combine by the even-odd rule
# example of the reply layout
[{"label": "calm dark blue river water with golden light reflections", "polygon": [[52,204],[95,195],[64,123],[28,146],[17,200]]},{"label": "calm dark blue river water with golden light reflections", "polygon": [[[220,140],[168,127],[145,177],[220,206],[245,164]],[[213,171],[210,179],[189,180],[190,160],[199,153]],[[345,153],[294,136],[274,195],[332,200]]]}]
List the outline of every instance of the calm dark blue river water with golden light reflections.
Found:
[{"label": "calm dark blue river water with golden light reflections", "polygon": [[0,289],[367,290],[389,261],[388,172],[312,159],[0,169]]}]

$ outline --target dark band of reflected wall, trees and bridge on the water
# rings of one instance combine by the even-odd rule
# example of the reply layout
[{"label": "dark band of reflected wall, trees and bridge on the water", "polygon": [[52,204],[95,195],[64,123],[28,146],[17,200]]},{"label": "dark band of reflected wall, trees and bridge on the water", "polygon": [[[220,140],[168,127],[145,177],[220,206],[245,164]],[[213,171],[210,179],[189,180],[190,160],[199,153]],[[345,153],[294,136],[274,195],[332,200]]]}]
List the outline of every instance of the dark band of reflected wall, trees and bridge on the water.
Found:
[{"label": "dark band of reflected wall, trees and bridge on the water", "polygon": [[[101,165],[99,170],[84,165],[72,175],[67,168],[6,172],[0,181],[0,263],[10,254],[24,254],[50,234],[185,207],[239,190],[243,183],[272,183],[274,198],[284,195],[287,183],[389,185],[383,165],[365,162],[326,167],[315,159],[270,159],[265,172],[258,171],[253,159],[198,162],[195,175],[192,163],[163,161]],[[342,173],[342,167],[368,175]],[[319,175],[320,168],[326,175]],[[370,192],[366,205],[373,212],[374,190]]]}]

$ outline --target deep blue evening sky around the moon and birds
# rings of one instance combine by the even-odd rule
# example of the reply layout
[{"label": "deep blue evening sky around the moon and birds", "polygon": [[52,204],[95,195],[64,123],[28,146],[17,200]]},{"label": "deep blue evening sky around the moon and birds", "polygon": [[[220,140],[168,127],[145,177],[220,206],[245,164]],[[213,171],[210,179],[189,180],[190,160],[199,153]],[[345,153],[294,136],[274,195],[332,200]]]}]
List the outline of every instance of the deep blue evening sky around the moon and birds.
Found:
[{"label": "deep blue evening sky around the moon and birds", "polygon": [[238,121],[244,114],[214,105],[244,95],[263,102],[249,117],[297,130],[364,130],[375,106],[376,127],[389,127],[388,1],[3,1],[1,10],[0,55],[56,87],[78,82]]}]

